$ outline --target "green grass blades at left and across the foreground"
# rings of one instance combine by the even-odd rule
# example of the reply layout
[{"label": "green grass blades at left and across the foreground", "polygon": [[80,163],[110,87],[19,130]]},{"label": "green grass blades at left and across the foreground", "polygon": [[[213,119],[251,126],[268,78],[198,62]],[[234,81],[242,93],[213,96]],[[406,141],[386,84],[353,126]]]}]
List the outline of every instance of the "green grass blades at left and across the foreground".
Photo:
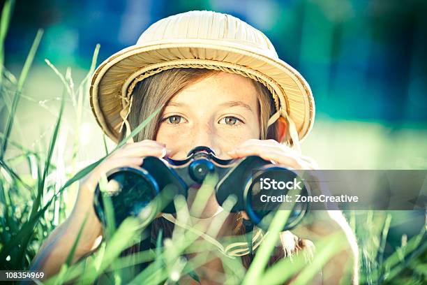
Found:
[{"label": "green grass blades at left and across the foreground", "polygon": [[[27,75],[31,72],[31,63],[43,36],[43,31],[38,31],[28,57],[24,61],[19,79],[14,81],[13,75],[3,67],[3,43],[13,5],[14,1],[6,1],[2,11],[0,28],[1,102],[6,104],[8,110],[6,127],[1,130],[0,270],[28,270],[40,245],[57,224],[66,219],[64,196],[67,191],[70,191],[71,187],[77,189],[79,180],[103,161],[107,154],[114,149],[109,152],[104,138],[105,156],[82,170],[77,169],[78,154],[82,150],[79,142],[82,113],[84,105],[89,101],[87,94],[89,78],[96,66],[99,46],[95,48],[87,75],[77,88],[75,88],[70,68],[63,75],[50,61],[46,61],[52,71],[58,75],[64,90],[61,105],[58,107],[57,120],[52,124],[50,140],[42,147],[46,151],[29,149],[10,139],[12,129],[20,128],[16,123],[19,122],[16,117],[17,106],[26,93],[24,87]],[[64,103],[66,100],[72,103],[72,108],[66,108]],[[66,182],[62,182],[54,179],[58,175],[59,168],[52,161],[52,157],[57,147],[59,132],[63,128],[63,115],[67,112],[72,112],[76,118],[75,137],[71,149],[73,153],[70,156],[70,161],[66,161],[68,165],[73,167],[71,173],[61,173],[67,177]],[[134,136],[144,128],[147,122],[156,115],[156,112],[147,117],[130,136]],[[115,149],[121,147],[124,142],[126,140],[123,140]],[[14,151],[13,156],[8,156],[10,149]],[[24,168],[25,170],[18,167],[22,163],[27,166]],[[200,190],[201,196],[197,199],[206,200],[212,183],[210,180],[205,182],[204,187]],[[165,203],[166,199],[167,195],[159,197],[153,201],[153,207],[159,207],[158,210],[161,210],[160,204]],[[174,203],[178,209],[185,209],[185,201],[182,197],[176,197]],[[227,207],[231,207],[232,203],[232,200],[227,201]],[[285,211],[276,213],[267,240],[258,249],[255,260],[247,272],[239,258],[226,258],[211,244],[198,240],[197,232],[218,231],[218,228],[208,229],[200,224],[194,226],[195,231],[177,227],[172,239],[167,240],[163,246],[161,235],[159,235],[156,251],[141,251],[129,256],[121,256],[121,251],[139,243],[147,236],[144,231],[147,226],[147,219],[129,218],[119,228],[115,228],[112,226],[114,225],[112,215],[107,215],[107,231],[99,249],[94,254],[72,264],[71,258],[77,247],[80,232],[58,275],[45,283],[64,284],[70,280],[77,280],[80,284],[91,284],[96,279],[114,284],[141,284],[142,282],[144,284],[163,284],[165,281],[174,283],[179,277],[186,274],[197,279],[195,268],[211,260],[211,258],[219,257],[225,269],[224,275],[220,277],[223,278],[225,284],[280,284],[294,277],[298,272],[299,275],[294,282],[306,284],[311,277],[317,274],[324,263],[340,251],[345,238],[343,235],[331,235],[320,240],[316,244],[315,258],[309,264],[306,263],[304,255],[301,254],[292,259],[285,258],[271,268],[266,268],[271,251],[278,240],[276,233],[285,223],[287,214]],[[180,210],[178,217],[181,220],[187,219],[188,211]],[[391,255],[385,256],[384,249],[387,246],[389,228],[396,218],[392,214],[380,211],[351,212],[348,213],[347,217],[359,242],[361,283],[423,284],[426,282],[427,243],[425,226],[421,228],[418,235],[410,240],[405,240],[403,237],[400,246],[394,249]],[[218,219],[220,218],[218,216]],[[219,221],[216,223],[216,227],[220,224]],[[410,221],[401,222],[408,223]],[[185,254],[190,253],[199,254],[194,258],[183,258]],[[147,261],[151,263],[145,270],[141,272],[133,270],[134,265]]]}]

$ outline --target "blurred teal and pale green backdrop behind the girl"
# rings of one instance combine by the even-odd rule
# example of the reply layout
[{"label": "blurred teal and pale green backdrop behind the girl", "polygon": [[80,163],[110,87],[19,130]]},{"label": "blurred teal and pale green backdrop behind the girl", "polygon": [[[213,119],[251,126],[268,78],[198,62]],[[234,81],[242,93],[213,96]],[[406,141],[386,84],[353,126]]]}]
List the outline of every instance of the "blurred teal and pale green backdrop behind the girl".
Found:
[{"label": "blurred teal and pale green backdrop behind the girl", "polygon": [[[1,1],[3,7],[3,1]],[[77,88],[89,71],[100,43],[98,64],[114,52],[135,44],[150,24],[188,10],[230,13],[264,32],[279,57],[306,78],[313,90],[316,118],[302,145],[323,169],[427,168],[427,1],[397,0],[216,0],[216,1],[17,1],[6,35],[4,82],[13,85],[39,28],[44,34],[22,99],[11,141],[47,152],[59,113],[61,73],[71,73]],[[7,84],[0,102],[0,129],[8,117]],[[66,97],[61,132],[52,161],[54,180],[66,181],[105,153],[103,136],[84,98],[77,118],[73,98]],[[80,149],[73,160],[75,136]],[[113,144],[107,140],[112,149]],[[20,149],[8,147],[13,160]],[[14,161],[22,172],[27,161]],[[66,192],[67,212],[75,189]],[[45,197],[49,199],[49,196]],[[419,233],[424,212],[394,212],[389,251],[402,235]]]}]

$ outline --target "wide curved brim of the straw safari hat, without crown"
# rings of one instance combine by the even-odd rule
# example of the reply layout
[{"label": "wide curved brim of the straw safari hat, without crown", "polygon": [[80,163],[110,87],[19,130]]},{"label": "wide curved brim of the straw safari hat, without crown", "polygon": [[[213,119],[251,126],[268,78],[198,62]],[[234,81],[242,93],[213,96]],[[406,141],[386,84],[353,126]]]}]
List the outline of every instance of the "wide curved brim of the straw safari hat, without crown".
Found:
[{"label": "wide curved brim of the straw safari hat, without crown", "polygon": [[315,117],[313,95],[306,80],[292,66],[275,54],[265,54],[264,50],[247,43],[239,45],[197,38],[133,45],[103,61],[93,73],[90,88],[91,109],[98,124],[109,138],[119,142],[123,98],[133,78],[158,66],[199,62],[232,66],[262,75],[274,85],[280,107],[294,121],[299,140],[304,140],[312,129]]}]

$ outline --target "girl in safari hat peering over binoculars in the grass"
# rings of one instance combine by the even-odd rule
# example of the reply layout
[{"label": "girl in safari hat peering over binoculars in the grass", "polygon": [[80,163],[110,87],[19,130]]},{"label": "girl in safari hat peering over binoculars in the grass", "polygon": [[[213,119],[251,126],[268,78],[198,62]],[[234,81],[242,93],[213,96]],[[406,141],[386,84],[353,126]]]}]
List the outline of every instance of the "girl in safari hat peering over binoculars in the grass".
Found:
[{"label": "girl in safari hat peering over binoculars in the grass", "polygon": [[[112,153],[81,181],[72,214],[33,261],[33,268],[47,275],[54,275],[65,261],[88,211],[73,262],[98,247],[103,231],[93,211],[93,191],[101,173],[113,168],[140,166],[144,156],[184,159],[197,146],[210,147],[221,159],[257,155],[287,168],[317,168],[299,148],[314,122],[310,87],[278,59],[264,34],[230,15],[191,11],[151,25],[136,45],[98,67],[92,78],[91,107],[98,124],[115,142],[155,110],[162,110],[133,138],[135,142]],[[188,193],[189,204],[196,192]],[[221,210],[211,196],[195,218],[209,223]],[[228,214],[216,238],[244,234],[244,219],[248,219],[245,212]],[[158,217],[152,235],[162,228],[165,237],[170,237],[174,226],[173,219]],[[315,224],[296,231],[314,241],[344,231],[347,248],[324,266],[323,281],[338,283],[350,261],[352,282],[357,283],[357,244],[340,212],[317,212]],[[313,242],[301,238],[281,233],[280,251],[270,263],[300,249],[313,251]],[[241,258],[248,268],[252,258]],[[218,275],[211,272],[223,272],[223,268],[216,258],[195,271],[202,283],[214,284]],[[194,282],[186,277],[181,281]]]}]

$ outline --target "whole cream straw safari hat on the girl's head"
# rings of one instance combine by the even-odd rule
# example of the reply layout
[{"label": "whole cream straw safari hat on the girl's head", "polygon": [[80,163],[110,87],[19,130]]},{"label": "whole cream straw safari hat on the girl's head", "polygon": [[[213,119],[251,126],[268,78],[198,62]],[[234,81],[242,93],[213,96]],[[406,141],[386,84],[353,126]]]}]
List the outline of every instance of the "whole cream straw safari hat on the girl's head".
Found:
[{"label": "whole cream straw safari hat on the girl's head", "polygon": [[308,83],[278,58],[267,36],[231,15],[190,11],[152,24],[135,45],[113,54],[93,73],[91,108],[114,142],[123,137],[123,124],[129,128],[137,82],[170,68],[209,68],[257,80],[276,105],[269,125],[280,116],[287,119],[293,142],[313,127],[315,104]]}]

